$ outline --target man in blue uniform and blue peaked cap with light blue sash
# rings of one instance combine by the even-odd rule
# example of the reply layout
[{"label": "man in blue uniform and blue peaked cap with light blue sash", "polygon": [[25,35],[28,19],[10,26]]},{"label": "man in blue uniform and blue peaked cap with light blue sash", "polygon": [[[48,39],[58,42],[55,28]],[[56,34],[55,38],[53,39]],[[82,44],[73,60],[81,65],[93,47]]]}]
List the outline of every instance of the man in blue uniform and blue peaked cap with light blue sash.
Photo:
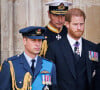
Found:
[{"label": "man in blue uniform and blue peaked cap with light blue sash", "polygon": [[29,26],[19,32],[25,51],[4,61],[0,90],[56,90],[55,65],[38,56],[45,28]]}]

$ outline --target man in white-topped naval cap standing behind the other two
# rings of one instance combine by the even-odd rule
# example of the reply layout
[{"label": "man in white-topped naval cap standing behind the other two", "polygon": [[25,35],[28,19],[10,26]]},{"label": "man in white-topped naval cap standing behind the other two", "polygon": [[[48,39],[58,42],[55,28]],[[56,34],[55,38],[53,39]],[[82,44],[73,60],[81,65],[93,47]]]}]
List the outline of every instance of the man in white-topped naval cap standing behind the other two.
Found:
[{"label": "man in white-topped naval cap standing behind the other two", "polygon": [[46,5],[49,5],[48,16],[50,21],[46,26],[45,36],[47,36],[49,44],[66,36],[67,28],[64,26],[65,14],[68,6],[72,5],[72,3],[65,0],[53,0],[46,3]]}]

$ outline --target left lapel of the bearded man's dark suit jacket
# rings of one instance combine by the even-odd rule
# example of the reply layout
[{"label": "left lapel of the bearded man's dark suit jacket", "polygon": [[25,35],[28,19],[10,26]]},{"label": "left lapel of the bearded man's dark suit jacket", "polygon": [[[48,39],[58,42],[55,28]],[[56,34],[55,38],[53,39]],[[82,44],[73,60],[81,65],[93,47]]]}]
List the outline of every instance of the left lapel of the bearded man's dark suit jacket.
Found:
[{"label": "left lapel of the bearded man's dark suit jacket", "polygon": [[72,72],[72,75],[74,76],[74,78],[76,78],[76,73],[75,73],[75,66],[74,66],[74,62],[73,62],[73,51],[72,48],[68,42],[67,38],[62,39],[62,42],[60,42],[61,45],[61,50],[63,52],[63,55],[65,57],[65,62],[69,65],[70,71]]}]

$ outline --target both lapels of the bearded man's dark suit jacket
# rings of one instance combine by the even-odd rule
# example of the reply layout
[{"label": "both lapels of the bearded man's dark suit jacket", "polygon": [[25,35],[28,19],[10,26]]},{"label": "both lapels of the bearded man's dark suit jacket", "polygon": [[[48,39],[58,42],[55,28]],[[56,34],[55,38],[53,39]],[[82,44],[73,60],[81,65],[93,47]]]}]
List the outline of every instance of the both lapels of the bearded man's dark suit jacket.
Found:
[{"label": "both lapels of the bearded man's dark suit jacket", "polygon": [[[63,55],[65,57],[64,60],[68,64],[70,71],[72,72],[72,75],[74,76],[74,78],[76,78],[75,66],[74,66],[74,61],[73,61],[74,60],[74,54],[73,54],[72,48],[69,44],[69,41],[68,41],[67,38],[64,38],[64,39],[62,39],[62,41],[60,43],[61,43],[61,50],[62,50]],[[89,82],[91,82],[91,65],[90,65],[91,62],[88,58],[89,57],[88,56],[88,50],[89,50],[89,47],[88,47],[87,43],[85,42],[84,39],[82,39],[82,56],[81,56],[81,59],[86,60],[87,76],[88,76]]]}]

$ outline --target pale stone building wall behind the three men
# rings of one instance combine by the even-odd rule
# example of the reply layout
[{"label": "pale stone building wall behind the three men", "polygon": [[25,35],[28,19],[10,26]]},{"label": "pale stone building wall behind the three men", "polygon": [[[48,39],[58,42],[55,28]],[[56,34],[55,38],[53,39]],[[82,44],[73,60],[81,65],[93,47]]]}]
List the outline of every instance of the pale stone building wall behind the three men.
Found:
[{"label": "pale stone building wall behind the three men", "polygon": [[[19,29],[26,26],[48,24],[48,6],[51,0],[0,0],[0,50],[1,63],[23,51]],[[67,0],[86,13],[84,38],[100,43],[100,0]]]}]

